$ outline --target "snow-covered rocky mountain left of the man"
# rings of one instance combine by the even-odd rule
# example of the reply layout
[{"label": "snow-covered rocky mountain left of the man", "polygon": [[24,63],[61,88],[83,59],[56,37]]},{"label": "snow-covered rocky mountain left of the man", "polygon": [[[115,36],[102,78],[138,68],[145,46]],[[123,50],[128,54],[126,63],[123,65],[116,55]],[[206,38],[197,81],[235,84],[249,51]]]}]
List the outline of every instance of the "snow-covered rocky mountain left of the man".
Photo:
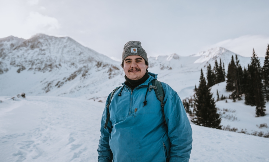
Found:
[{"label": "snow-covered rocky mountain left of the man", "polygon": [[23,40],[10,36],[0,39],[0,47],[0,95],[24,91],[78,97],[96,93],[100,89],[95,87],[122,74],[119,62],[69,37],[37,34]]}]

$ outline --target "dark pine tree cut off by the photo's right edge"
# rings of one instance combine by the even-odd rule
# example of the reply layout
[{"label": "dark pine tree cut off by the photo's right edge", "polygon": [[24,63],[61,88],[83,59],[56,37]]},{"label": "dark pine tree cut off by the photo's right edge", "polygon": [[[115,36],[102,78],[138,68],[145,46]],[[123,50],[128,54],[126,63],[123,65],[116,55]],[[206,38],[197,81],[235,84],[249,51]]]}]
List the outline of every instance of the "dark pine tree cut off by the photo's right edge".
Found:
[{"label": "dark pine tree cut off by the photo's right edge", "polygon": [[264,95],[266,100],[269,101],[269,44],[267,44],[267,50],[265,54],[263,76],[264,76]]}]

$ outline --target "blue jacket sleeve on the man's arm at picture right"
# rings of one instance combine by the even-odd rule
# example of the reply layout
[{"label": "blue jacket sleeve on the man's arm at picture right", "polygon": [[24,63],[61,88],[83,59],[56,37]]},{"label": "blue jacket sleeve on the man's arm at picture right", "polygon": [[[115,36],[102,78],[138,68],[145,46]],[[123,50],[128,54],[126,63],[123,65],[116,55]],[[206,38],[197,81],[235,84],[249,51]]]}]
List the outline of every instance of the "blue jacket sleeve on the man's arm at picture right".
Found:
[{"label": "blue jacket sleeve on the man's arm at picture right", "polygon": [[192,127],[178,94],[174,92],[165,97],[165,119],[171,142],[169,161],[188,162],[192,150]]}]

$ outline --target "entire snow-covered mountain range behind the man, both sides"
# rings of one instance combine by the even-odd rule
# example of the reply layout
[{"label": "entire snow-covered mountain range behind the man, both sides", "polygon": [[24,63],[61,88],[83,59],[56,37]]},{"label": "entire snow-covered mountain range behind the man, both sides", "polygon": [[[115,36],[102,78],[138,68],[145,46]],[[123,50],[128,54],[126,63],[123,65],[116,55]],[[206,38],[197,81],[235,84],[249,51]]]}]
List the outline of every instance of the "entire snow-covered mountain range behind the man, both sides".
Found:
[{"label": "entire snow-covered mountain range behind the man, both sides", "polygon": [[[251,53],[252,51],[250,51]],[[227,71],[235,53],[217,47],[191,56],[149,57],[149,72],[168,83],[181,98],[193,93],[200,69],[213,67],[215,59]],[[263,64],[263,59],[260,58]],[[242,66],[250,57],[239,56]],[[24,40],[9,36],[0,39],[0,96],[21,92],[30,95],[106,98],[109,91],[124,82],[120,62],[82,46],[69,37],[34,35]]]}]

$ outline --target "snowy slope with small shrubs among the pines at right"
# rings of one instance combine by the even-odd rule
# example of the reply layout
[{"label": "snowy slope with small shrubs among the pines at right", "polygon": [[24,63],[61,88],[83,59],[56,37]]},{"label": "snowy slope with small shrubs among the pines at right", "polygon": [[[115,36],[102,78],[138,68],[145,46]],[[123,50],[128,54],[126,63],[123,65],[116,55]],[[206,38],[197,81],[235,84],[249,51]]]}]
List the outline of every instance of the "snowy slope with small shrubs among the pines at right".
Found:
[{"label": "snowy slope with small shrubs among the pines at right", "polygon": [[[230,92],[225,90],[226,82],[222,82],[211,87],[211,92],[213,93],[213,97],[215,101],[217,100],[217,90],[219,95],[222,94],[228,98]],[[244,95],[242,96],[242,100],[233,102],[232,99],[227,99],[227,103],[225,100],[217,101],[216,107],[218,109],[218,113],[221,114],[221,125],[224,127],[236,128],[236,132],[246,131],[246,133],[252,134],[255,131],[268,133],[269,132],[269,102],[266,103],[266,116],[255,117],[255,108],[256,106],[245,105]],[[267,124],[267,127],[260,127],[260,124]]]}]

